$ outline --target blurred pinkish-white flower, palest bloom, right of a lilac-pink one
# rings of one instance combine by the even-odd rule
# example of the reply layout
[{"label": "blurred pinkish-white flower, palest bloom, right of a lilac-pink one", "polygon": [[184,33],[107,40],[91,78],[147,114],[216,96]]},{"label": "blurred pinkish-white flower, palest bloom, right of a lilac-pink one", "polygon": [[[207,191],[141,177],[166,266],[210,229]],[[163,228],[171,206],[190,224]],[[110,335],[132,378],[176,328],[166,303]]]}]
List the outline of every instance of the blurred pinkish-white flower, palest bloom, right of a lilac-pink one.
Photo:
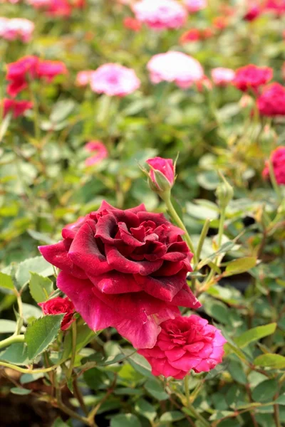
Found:
[{"label": "blurred pinkish-white flower, palest bloom, right of a lilac-pink one", "polygon": [[152,56],[147,63],[147,70],[150,72],[152,83],[174,82],[182,89],[189,88],[204,75],[202,65],[196,59],[175,51]]}]

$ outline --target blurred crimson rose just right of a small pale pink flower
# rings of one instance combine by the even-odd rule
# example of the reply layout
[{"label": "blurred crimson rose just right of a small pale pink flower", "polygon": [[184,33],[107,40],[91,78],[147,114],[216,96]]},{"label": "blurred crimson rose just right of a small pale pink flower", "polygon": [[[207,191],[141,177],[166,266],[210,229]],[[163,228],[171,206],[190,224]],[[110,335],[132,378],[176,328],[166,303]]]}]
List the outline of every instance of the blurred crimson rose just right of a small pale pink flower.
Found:
[{"label": "blurred crimson rose just right of a small pale pink flower", "polygon": [[236,71],[233,83],[242,92],[247,92],[247,90],[257,92],[261,85],[265,85],[271,80],[272,76],[272,68],[249,64]]}]

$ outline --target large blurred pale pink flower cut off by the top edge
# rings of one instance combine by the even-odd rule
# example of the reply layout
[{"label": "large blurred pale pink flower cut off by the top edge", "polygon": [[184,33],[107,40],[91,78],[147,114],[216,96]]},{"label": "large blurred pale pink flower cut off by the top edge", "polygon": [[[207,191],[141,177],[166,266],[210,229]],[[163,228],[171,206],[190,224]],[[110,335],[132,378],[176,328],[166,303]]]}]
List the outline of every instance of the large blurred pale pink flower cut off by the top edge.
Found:
[{"label": "large blurred pale pink flower cut off by the top edge", "polygon": [[185,8],[175,0],[141,0],[133,11],[138,21],[156,30],[180,28],[187,18]]}]

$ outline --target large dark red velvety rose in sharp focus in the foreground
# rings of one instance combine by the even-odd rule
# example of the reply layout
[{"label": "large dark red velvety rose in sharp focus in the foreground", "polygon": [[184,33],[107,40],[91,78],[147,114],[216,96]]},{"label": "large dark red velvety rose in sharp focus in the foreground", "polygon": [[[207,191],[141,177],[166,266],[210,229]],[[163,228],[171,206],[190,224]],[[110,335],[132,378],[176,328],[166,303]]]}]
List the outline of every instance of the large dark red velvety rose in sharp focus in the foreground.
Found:
[{"label": "large dark red velvety rose in sharp focus in the foreground", "polygon": [[115,327],[134,347],[153,347],[159,324],[197,308],[186,282],[190,253],[183,231],[142,204],[100,209],[63,228],[63,241],[41,246],[61,268],[57,285],[92,330]]}]

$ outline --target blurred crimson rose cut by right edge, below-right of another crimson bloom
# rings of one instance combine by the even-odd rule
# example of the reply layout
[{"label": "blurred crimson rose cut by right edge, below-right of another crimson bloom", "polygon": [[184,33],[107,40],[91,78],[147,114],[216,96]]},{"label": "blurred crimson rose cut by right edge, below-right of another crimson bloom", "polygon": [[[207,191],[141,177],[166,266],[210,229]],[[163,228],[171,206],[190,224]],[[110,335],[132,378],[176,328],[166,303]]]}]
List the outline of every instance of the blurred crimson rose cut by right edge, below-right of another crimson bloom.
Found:
[{"label": "blurred crimson rose cut by right edge, below-right of another crimson bloom", "polygon": [[285,115],[285,88],[279,83],[272,83],[264,88],[257,98],[260,115],[275,117]]}]

